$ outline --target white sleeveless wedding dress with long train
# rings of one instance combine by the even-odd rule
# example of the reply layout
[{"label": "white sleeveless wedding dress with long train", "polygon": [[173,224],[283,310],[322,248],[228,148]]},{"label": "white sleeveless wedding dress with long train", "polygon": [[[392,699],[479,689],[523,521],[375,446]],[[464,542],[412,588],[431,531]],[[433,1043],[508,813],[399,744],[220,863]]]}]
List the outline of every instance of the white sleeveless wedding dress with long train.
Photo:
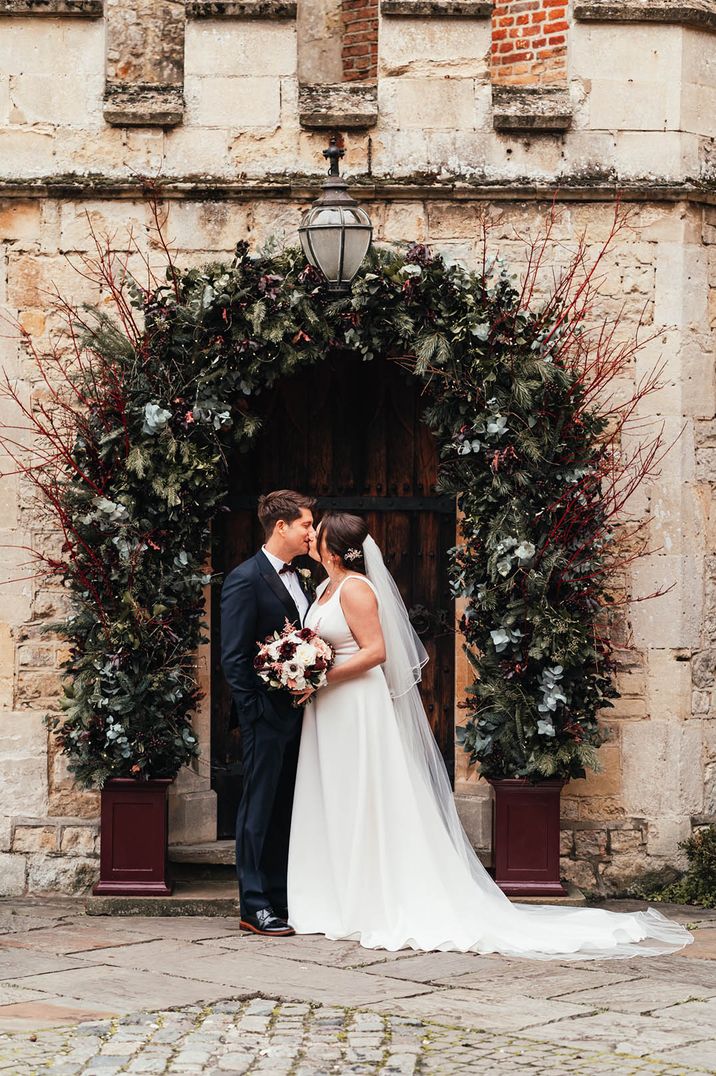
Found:
[{"label": "white sleeveless wedding dress with long train", "polygon": [[[322,584],[305,620],[333,645],[337,664],[359,649],[341,608],[345,584],[320,605]],[[289,853],[289,917],[298,934],[368,949],[561,960],[655,955],[691,940],[651,909],[511,904],[462,830],[458,840],[449,832],[399,713],[382,667],[321,689],[306,707]],[[451,797],[448,810],[459,825]]]}]

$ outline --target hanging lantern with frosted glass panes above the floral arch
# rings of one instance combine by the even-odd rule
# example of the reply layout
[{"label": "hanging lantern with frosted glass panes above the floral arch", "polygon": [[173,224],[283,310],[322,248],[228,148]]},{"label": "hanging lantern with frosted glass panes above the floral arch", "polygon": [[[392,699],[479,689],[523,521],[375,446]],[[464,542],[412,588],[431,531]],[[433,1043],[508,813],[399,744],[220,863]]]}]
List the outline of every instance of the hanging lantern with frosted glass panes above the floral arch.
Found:
[{"label": "hanging lantern with frosted glass panes above the floral arch", "polygon": [[345,155],[335,138],[323,156],[331,161],[323,193],[304,214],[298,228],[304,254],[320,269],[328,291],[346,295],[351,281],[368,253],[373,236],[370,217],[348,193],[348,184],[338,172],[338,161]]}]

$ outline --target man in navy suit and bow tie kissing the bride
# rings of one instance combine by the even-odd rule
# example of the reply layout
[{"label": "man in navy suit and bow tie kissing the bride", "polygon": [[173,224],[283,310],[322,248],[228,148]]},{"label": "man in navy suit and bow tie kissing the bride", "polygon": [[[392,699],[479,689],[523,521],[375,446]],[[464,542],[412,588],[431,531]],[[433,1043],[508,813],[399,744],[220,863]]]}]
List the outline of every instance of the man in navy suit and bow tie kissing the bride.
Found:
[{"label": "man in navy suit and bow tie kissing the bride", "polygon": [[293,490],[258,499],[266,536],[255,556],[228,574],[222,589],[222,668],[241,730],[243,789],[236,819],[241,926],[289,937],[286,870],[291,809],[303,711],[290,692],[269,691],[254,671],[258,645],[297,626],[310,605],[295,556],[308,553],[315,501]]}]

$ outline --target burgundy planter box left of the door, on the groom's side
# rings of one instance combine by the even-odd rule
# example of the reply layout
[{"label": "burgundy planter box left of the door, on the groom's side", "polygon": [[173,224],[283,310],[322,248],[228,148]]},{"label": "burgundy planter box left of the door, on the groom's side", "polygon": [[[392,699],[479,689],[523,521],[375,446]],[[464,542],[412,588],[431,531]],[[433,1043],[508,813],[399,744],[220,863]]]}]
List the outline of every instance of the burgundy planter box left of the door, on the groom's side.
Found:
[{"label": "burgundy planter box left of the door, on the groom's side", "polygon": [[101,792],[97,896],[168,896],[169,778],[114,777]]}]

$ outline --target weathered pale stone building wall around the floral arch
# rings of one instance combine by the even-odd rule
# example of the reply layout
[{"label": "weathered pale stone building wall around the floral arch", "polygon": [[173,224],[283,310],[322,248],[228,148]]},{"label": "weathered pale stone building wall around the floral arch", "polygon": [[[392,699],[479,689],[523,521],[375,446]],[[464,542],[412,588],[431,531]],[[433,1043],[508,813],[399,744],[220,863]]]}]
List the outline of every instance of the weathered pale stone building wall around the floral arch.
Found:
[{"label": "weathered pale stone building wall around the floral arch", "polygon": [[[335,3],[311,4],[335,20]],[[634,4],[610,3],[609,18],[576,4],[561,96],[533,86],[524,98],[491,76],[495,23],[478,0],[382,0],[377,84],[339,87],[318,81],[315,42],[300,29],[308,9],[296,19],[287,0],[144,5],[141,47],[129,30],[139,0],[112,0],[104,17],[94,0],[0,0],[0,303],[39,345],[54,327],[53,287],[98,298],[72,268],[90,224],[117,246],[131,228],[160,261],[141,175],[162,178],[181,264],[226,256],[237,239],[294,242],[334,129],[378,241],[431,242],[468,265],[486,206],[503,213],[494,243],[519,271],[517,232],[539,226],[556,190],[568,247],[585,231],[592,246],[605,237],[621,189],[632,227],[606,267],[603,309],[620,332],[641,321],[654,337],[632,373],[664,362],[649,410],[674,441],[630,509],[648,519],[652,552],[629,585],[635,596],[671,590],[633,605],[604,769],[564,793],[564,870],[590,889],[674,862],[691,825],[716,817],[716,70],[710,25],[684,15],[697,6],[624,23]],[[157,37],[153,18],[170,32]],[[141,70],[137,48],[149,48]],[[332,56],[335,66],[340,49]],[[132,79],[141,93],[128,91]],[[10,329],[0,359],[31,399],[37,371]],[[9,470],[0,462],[0,889],[70,891],[96,870],[97,796],[73,787],[47,744],[62,650],[42,626],[65,596],[31,578],[24,547],[54,539]],[[458,698],[465,677],[459,662]],[[197,727],[205,758],[177,782],[174,839],[212,836],[206,708]],[[489,790],[458,753],[461,811],[489,858]]]}]

